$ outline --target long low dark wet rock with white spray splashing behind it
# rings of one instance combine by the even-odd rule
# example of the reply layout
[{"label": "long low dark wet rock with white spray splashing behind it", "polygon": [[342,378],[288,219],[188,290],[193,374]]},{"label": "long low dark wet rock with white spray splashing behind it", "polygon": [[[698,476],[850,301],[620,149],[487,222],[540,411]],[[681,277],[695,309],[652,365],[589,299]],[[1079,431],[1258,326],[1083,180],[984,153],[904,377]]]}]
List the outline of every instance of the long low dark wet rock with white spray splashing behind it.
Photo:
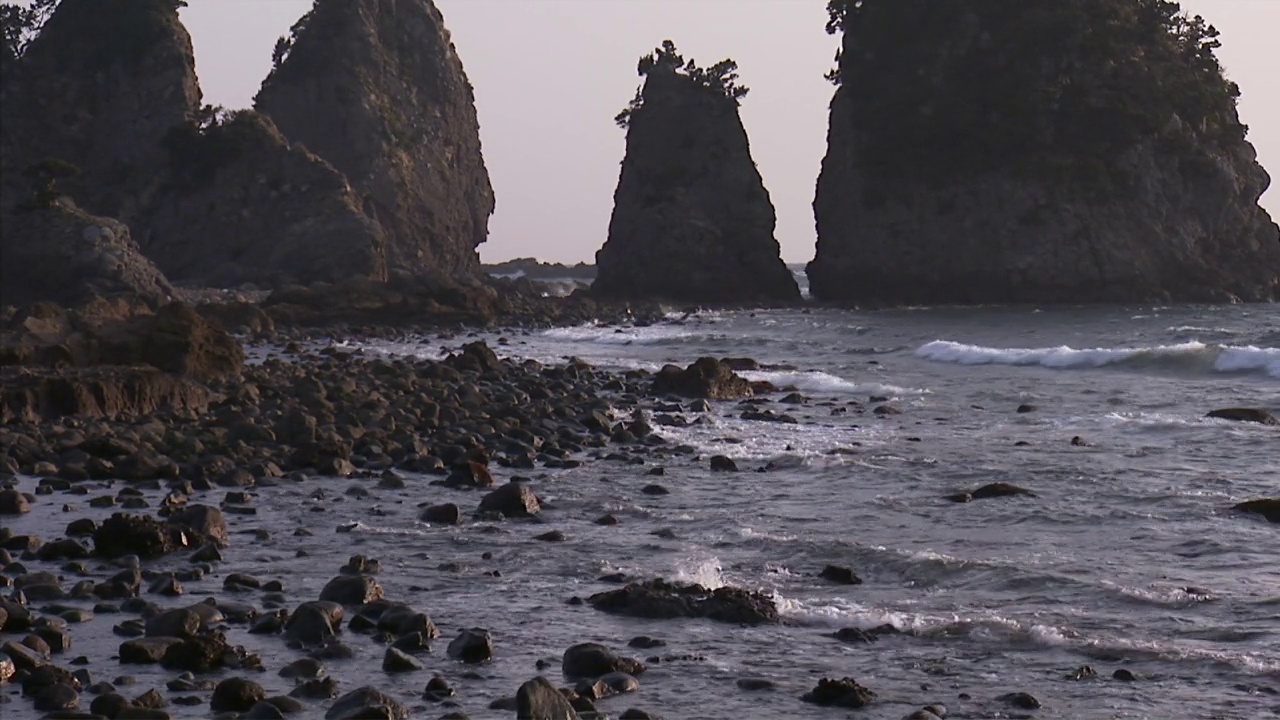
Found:
[{"label": "long low dark wet rock with white spray splashing behind it", "polygon": [[710,591],[662,579],[596,593],[586,602],[596,610],[632,618],[708,618],[748,625],[778,621],[777,606],[763,593],[732,587]]}]

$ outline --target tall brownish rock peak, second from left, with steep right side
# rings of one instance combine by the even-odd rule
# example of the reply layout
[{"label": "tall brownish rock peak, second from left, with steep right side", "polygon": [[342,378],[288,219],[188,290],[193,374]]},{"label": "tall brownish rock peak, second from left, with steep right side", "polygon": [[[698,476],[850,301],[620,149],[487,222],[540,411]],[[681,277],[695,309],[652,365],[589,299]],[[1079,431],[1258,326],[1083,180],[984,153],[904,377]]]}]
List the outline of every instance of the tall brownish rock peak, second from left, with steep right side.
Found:
[{"label": "tall brownish rock peak, second from left, with steep right side", "polygon": [[471,83],[431,0],[316,0],[256,108],[332,163],[393,273],[479,272],[493,188]]}]

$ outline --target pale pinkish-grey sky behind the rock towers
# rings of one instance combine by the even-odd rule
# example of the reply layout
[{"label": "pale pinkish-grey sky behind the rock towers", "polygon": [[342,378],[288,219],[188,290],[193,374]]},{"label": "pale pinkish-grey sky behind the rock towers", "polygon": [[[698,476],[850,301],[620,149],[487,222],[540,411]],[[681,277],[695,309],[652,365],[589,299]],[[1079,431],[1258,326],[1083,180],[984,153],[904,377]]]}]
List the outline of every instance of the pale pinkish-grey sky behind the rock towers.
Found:
[{"label": "pale pinkish-grey sky behind the rock towers", "polygon": [[[311,0],[189,0],[205,101],[252,104],[275,38]],[[788,263],[814,255],[813,193],[827,143],[837,40],[824,0],[436,0],[475,87],[497,195],[486,263],[594,261],[608,236],[626,136],[613,115],[635,94],[636,59],[666,38],[709,65],[733,58],[742,123],[777,209]],[[1240,115],[1280,182],[1280,0],[1183,0],[1222,33],[1219,59],[1243,90]],[[1280,191],[1262,200],[1280,218]]]}]

